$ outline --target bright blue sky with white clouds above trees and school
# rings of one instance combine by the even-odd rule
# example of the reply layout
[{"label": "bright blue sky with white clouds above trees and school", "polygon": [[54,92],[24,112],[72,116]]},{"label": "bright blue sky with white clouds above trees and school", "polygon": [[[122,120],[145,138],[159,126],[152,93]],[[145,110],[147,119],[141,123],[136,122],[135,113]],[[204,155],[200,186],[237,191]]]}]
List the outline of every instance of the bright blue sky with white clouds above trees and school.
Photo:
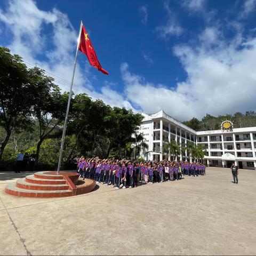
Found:
[{"label": "bright blue sky with white clouds above trees and school", "polygon": [[109,76],[79,53],[76,93],[201,118],[256,110],[255,10],[256,0],[0,0],[0,45],[70,81],[83,20]]}]

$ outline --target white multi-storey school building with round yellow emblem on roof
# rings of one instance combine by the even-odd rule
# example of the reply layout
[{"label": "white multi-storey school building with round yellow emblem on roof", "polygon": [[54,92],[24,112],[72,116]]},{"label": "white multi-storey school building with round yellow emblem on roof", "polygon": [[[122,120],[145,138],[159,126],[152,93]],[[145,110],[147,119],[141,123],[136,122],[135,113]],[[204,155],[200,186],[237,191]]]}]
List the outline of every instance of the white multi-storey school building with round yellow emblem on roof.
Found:
[{"label": "white multi-storey school building with round yellow emblem on roof", "polygon": [[[161,161],[170,158],[162,151],[165,141],[175,140],[179,145],[191,141],[205,147],[203,162],[207,166],[230,167],[232,163],[239,169],[256,170],[256,127],[233,128],[230,121],[220,124],[220,130],[197,132],[167,115],[163,110],[155,114],[141,113],[144,118],[139,129],[148,144],[142,157]],[[188,159],[187,152],[179,160]]]}]

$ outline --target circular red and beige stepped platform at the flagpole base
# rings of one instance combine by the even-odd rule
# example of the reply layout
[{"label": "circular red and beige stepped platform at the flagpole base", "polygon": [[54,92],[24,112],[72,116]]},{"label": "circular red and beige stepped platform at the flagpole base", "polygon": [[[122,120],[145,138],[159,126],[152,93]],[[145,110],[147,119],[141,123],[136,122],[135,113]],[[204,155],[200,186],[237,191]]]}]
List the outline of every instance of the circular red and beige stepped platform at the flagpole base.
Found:
[{"label": "circular red and beige stepped platform at the flagpole base", "polygon": [[78,174],[74,172],[36,172],[26,178],[9,183],[5,193],[24,197],[64,197],[89,193],[95,187],[95,181],[85,179],[77,184]]}]

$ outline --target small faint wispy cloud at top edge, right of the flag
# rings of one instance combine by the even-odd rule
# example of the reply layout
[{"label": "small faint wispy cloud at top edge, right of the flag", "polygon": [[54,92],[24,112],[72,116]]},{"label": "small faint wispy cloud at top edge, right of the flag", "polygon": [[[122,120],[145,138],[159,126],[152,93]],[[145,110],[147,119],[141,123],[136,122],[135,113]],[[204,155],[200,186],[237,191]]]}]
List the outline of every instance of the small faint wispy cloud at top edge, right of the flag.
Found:
[{"label": "small faint wispy cloud at top edge, right of the flag", "polygon": [[183,29],[178,24],[174,13],[171,11],[169,2],[164,2],[164,10],[167,12],[167,21],[164,25],[156,27],[156,33],[163,39],[169,39],[170,36],[179,36],[182,34]]}]

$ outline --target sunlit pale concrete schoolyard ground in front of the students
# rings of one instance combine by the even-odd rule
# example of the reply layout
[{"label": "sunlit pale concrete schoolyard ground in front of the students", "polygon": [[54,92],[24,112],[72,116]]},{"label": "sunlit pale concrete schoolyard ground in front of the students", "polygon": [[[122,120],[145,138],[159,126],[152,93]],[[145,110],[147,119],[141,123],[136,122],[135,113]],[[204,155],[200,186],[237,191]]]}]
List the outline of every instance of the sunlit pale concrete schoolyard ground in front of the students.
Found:
[{"label": "sunlit pale concrete schoolyard ground in front of the students", "polygon": [[26,173],[0,173],[0,254],[256,254],[256,171],[206,173],[53,199],[6,195]]}]

